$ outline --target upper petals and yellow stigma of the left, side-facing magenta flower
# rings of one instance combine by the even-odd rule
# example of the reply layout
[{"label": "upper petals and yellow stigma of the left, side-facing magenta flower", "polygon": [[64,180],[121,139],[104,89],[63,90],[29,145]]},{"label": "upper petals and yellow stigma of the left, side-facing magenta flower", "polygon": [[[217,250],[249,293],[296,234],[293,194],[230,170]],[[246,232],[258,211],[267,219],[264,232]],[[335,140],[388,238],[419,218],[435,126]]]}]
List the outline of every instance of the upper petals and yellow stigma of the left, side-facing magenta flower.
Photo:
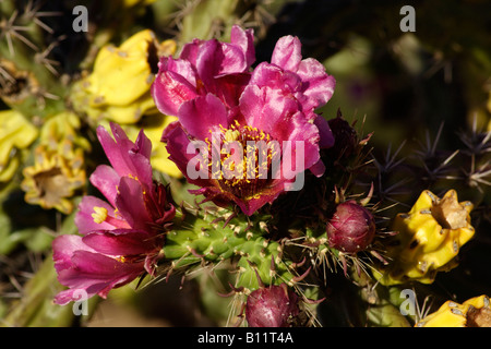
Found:
[{"label": "upper petals and yellow stigma of the left, side-facing magenta flower", "polygon": [[130,227],[148,230],[170,220],[175,215],[170,197],[161,184],[153,181],[152,142],[141,131],[133,143],[121,127],[110,127],[113,137],[103,127],[97,129],[97,137],[111,166],[99,165],[89,178],[107,202],[83,197],[75,216],[79,231]]}]

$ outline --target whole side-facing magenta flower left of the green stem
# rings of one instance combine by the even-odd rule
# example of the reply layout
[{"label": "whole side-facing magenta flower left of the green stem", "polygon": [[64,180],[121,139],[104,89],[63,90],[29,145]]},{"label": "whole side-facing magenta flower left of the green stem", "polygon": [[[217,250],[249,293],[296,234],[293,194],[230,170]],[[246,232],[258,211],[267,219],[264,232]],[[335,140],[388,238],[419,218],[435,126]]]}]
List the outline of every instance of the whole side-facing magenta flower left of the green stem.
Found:
[{"label": "whole side-facing magenta flower left of the green stem", "polygon": [[97,129],[111,166],[100,165],[91,176],[107,202],[84,196],[75,217],[83,236],[60,236],[52,243],[58,279],[69,287],[56,296],[59,304],[76,300],[80,291],[105,298],[144,273],[155,275],[163,232],[176,214],[166,188],[152,179],[149,140],[141,132],[133,143],[120,127],[111,130],[113,139]]}]

